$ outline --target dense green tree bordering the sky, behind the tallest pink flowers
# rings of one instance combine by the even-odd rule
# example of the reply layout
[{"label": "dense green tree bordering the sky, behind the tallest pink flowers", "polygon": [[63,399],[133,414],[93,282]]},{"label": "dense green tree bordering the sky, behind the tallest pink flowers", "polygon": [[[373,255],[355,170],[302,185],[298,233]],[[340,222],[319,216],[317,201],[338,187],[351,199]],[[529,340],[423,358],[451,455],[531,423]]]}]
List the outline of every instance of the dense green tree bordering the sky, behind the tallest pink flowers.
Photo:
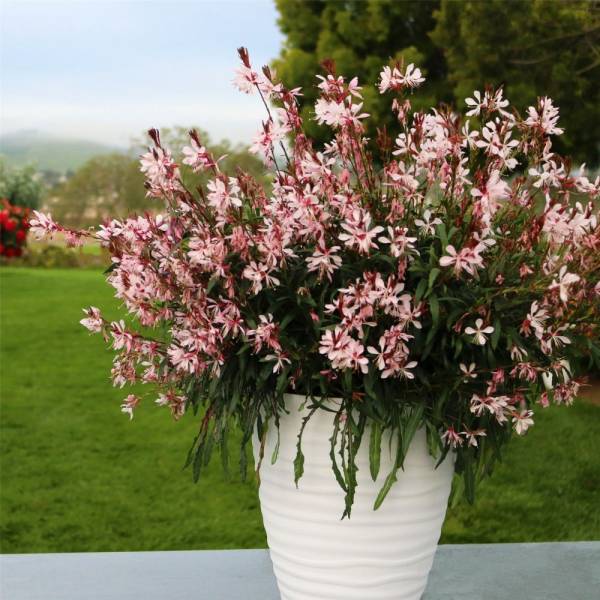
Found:
[{"label": "dense green tree bordering the sky, behind the tallest pink flowers", "polygon": [[[328,135],[313,121],[318,83],[314,75],[325,59],[335,61],[338,74],[358,76],[364,84],[364,108],[378,125],[392,129],[395,125],[389,99],[374,85],[384,64],[402,58],[419,64],[429,85],[415,96],[417,108],[451,99],[448,87],[440,85],[445,77],[442,53],[427,35],[435,26],[433,13],[439,1],[276,0],[276,4],[286,41],[273,66],[286,86],[302,86],[302,116],[315,139],[322,142]],[[375,134],[369,131],[371,138]]]}]

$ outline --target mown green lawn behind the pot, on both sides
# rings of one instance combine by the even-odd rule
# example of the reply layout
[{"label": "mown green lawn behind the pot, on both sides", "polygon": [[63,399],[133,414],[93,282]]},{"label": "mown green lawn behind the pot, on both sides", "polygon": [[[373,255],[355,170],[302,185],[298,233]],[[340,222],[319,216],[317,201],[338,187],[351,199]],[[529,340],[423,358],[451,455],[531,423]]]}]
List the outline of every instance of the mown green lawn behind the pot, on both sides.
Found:
[{"label": "mown green lawn behind the pot, on both sides", "polygon": [[[101,273],[0,277],[2,551],[264,546],[252,481],[226,481],[218,461],[198,485],[182,470],[191,416],[119,412],[111,353],[78,324],[90,304],[117,314]],[[477,505],[449,514],[443,542],[600,539],[600,407],[539,413]]]}]

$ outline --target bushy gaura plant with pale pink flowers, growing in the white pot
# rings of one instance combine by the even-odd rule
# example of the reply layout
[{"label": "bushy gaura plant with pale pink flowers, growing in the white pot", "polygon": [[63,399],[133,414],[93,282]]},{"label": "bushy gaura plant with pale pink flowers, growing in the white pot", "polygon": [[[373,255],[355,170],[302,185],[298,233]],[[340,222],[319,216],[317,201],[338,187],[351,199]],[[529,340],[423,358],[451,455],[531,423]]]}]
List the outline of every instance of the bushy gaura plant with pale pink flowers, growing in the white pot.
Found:
[{"label": "bushy gaura plant with pale pink flowers, growing in the white pot", "polygon": [[[235,85],[266,109],[251,150],[271,168],[269,187],[223,173],[195,131],[179,164],[153,129],[141,169],[164,214],[76,231],[36,212],[32,230],[74,245],[93,237],[110,251],[108,282],[143,333],[95,307],[82,323],[117,351],[115,385],[152,384],[176,419],[199,415],[187,460],[195,478],[215,446],[227,463],[234,423],[245,472],[253,431],[264,443],[295,392],[309,409],[296,483],[304,428],[333,411],[344,515],[359,446],[369,445],[375,479],[386,439],[397,440],[377,508],[419,428],[440,461],[455,453],[459,491],[472,501],[534,408],[570,405],[580,385],[572,370],[600,363],[600,178],[573,173],[553,151],[563,131],[549,98],[524,118],[502,89],[474,92],[467,118],[413,112],[424,77],[412,64],[381,72],[398,132],[377,140],[363,135],[357,79],[326,64],[315,119],[331,142],[315,148],[300,90],[239,54]],[[210,174],[205,189],[186,186],[190,169]],[[130,394],[121,408],[133,416],[139,402]]]}]

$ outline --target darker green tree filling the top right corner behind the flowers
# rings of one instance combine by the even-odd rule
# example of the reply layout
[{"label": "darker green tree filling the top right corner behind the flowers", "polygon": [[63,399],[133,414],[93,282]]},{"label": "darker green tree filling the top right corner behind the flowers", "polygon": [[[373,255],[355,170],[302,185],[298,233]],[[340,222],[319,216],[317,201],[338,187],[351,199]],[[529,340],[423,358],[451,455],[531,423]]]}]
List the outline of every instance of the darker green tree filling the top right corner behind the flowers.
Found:
[{"label": "darker green tree filling the top right corner behind the flowers", "polygon": [[444,49],[459,105],[483,84],[504,85],[519,109],[550,96],[566,130],[557,146],[598,162],[600,3],[443,0],[436,20],[431,38]]}]

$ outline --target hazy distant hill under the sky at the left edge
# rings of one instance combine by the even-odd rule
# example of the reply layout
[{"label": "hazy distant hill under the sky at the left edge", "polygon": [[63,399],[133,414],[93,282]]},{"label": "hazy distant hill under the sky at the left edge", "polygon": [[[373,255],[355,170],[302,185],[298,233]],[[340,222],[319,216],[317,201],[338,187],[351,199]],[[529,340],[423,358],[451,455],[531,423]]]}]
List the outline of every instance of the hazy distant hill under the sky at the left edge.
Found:
[{"label": "hazy distant hill under the sky at the left edge", "polygon": [[89,140],[52,136],[36,130],[0,136],[0,155],[11,166],[34,163],[39,170],[59,173],[76,169],[92,156],[126,151]]}]

